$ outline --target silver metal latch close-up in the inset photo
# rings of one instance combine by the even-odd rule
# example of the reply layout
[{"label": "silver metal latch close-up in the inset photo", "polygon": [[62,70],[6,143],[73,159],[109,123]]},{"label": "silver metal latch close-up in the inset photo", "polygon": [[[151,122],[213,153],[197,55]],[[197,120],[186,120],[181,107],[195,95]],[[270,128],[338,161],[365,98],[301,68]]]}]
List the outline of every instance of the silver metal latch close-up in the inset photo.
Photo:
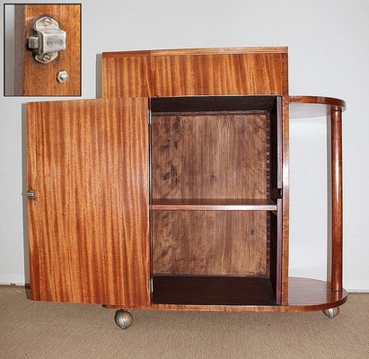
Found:
[{"label": "silver metal latch close-up in the inset photo", "polygon": [[33,49],[36,61],[48,64],[66,49],[66,31],[59,29],[57,20],[44,16],[33,24],[28,47]]}]

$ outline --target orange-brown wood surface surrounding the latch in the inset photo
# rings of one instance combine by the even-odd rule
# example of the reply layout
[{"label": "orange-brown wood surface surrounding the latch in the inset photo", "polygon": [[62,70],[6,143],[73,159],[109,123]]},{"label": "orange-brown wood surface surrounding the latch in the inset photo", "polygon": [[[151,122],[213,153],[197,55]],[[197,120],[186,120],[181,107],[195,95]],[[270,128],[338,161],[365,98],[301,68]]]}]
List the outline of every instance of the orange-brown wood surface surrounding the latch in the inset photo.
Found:
[{"label": "orange-brown wood surface surrounding the latch in the inset photo", "polygon": [[[66,31],[66,50],[46,65],[37,62],[27,48],[33,22],[42,16],[55,18]],[[81,4],[16,4],[15,29],[14,94],[81,96]],[[57,81],[61,70],[68,73],[65,83]]]}]

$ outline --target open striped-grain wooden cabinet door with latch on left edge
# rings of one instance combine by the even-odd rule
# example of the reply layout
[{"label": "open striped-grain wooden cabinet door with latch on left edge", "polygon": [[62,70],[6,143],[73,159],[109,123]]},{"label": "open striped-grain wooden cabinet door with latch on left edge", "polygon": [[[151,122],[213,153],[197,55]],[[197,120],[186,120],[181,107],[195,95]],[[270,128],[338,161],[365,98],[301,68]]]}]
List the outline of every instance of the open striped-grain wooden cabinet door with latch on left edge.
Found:
[{"label": "open striped-grain wooden cabinet door with latch on left edge", "polygon": [[147,108],[28,104],[31,299],[149,304]]}]

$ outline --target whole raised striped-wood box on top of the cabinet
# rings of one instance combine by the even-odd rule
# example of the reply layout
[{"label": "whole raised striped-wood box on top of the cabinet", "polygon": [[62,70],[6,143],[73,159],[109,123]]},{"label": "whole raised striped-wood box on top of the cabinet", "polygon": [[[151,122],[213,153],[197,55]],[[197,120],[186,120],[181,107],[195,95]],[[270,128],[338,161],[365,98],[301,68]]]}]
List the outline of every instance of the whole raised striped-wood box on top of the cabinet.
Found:
[{"label": "whole raised striped-wood box on top of the cabinet", "polygon": [[103,53],[102,97],[287,95],[286,52],[286,48],[185,48]]}]

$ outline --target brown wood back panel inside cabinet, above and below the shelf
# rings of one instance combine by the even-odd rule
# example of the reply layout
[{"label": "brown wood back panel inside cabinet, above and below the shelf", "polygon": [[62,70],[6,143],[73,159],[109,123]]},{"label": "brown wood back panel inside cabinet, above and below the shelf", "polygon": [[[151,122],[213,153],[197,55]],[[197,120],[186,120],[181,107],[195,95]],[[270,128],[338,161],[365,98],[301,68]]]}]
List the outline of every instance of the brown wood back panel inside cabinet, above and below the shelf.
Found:
[{"label": "brown wood back panel inside cabinet, above and below the shelf", "polygon": [[[267,115],[153,115],[153,198],[267,198]],[[171,213],[173,212],[173,213]],[[267,213],[153,213],[154,275],[267,275]]]}]

